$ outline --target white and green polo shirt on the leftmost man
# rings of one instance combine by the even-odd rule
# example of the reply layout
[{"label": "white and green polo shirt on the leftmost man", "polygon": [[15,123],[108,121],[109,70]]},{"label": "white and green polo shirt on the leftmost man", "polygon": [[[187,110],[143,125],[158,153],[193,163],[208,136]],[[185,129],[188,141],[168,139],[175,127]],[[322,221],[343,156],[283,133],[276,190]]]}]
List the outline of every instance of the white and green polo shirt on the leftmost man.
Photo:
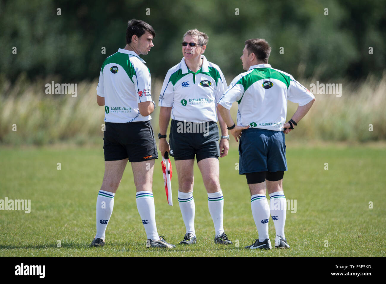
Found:
[{"label": "white and green polo shirt on the leftmost man", "polygon": [[105,121],[149,121],[139,113],[138,103],[151,101],[150,71],[134,51],[118,49],[100,70],[97,95],[105,98]]}]

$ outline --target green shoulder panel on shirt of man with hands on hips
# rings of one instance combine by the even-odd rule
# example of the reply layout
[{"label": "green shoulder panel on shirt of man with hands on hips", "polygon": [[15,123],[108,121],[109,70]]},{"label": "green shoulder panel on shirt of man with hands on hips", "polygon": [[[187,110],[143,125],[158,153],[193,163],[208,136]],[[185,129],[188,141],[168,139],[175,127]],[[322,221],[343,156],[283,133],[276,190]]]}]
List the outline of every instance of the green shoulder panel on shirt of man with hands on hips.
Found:
[{"label": "green shoulder panel on shirt of man with hands on hips", "polygon": [[[287,89],[289,87],[289,84],[291,82],[291,78],[289,76],[280,73],[279,71],[276,71],[272,68],[255,68],[251,73],[248,73],[247,75],[240,78],[239,81],[237,81],[236,84],[241,84],[244,87],[244,92],[251,87],[253,83],[256,83],[259,80],[269,80],[269,79],[277,79],[286,84]],[[245,93],[244,93],[245,94]],[[244,97],[244,94],[242,97]],[[242,99],[241,97],[241,99]],[[241,99],[237,102],[240,104]]]}]

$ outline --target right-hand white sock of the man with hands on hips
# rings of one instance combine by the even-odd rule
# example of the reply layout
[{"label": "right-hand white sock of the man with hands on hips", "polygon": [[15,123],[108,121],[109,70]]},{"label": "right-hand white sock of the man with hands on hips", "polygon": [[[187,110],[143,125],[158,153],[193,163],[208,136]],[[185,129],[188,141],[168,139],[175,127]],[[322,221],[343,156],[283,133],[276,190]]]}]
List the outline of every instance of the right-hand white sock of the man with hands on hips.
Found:
[{"label": "right-hand white sock of the man with hands on hips", "polygon": [[269,194],[271,203],[271,216],[275,225],[276,236],[284,236],[284,225],[286,224],[287,202],[284,191]]}]

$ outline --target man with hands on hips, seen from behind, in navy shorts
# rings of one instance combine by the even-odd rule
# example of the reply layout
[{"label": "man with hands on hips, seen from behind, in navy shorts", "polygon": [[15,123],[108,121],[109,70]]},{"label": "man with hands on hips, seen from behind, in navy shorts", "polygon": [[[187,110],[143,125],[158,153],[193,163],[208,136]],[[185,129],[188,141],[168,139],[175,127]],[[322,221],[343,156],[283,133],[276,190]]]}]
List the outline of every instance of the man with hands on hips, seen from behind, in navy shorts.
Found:
[{"label": "man with hands on hips, seen from behind, in navy shorts", "polygon": [[[289,248],[284,235],[286,198],[283,176],[287,170],[284,133],[294,129],[311,108],[315,97],[291,75],[268,64],[271,47],[264,39],[245,41],[243,69],[218,101],[218,111],[239,143],[239,174],[245,174],[251,191],[252,215],[259,238],[248,249],[271,249],[269,215],[276,229],[275,247]],[[299,104],[285,123],[287,100]],[[237,126],[230,107],[238,102]],[[271,208],[266,198],[268,190]]]}]

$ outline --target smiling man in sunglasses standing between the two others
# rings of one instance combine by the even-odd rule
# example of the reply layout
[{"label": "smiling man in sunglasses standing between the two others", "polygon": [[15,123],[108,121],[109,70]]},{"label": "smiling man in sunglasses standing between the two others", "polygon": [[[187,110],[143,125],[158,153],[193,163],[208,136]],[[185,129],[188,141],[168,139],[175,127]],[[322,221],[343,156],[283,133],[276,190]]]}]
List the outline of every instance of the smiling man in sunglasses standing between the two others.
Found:
[{"label": "smiling man in sunglasses standing between the two others", "polygon": [[[207,43],[208,36],[203,32],[194,29],[185,33],[182,42],[184,57],[166,74],[158,102],[161,107],[159,149],[162,155],[169,152],[176,163],[178,203],[186,227],[186,235],[180,244],[185,245],[196,243],[193,200],[195,157],[208,192],[209,212],[215,226],[215,243],[232,244],[223,229],[224,200],[218,166],[218,157],[228,154],[229,135],[225,122],[218,114],[222,133],[218,144],[216,123],[216,102],[224,93],[227,83],[220,68],[203,56]],[[170,117],[169,145],[166,132]]]}]

